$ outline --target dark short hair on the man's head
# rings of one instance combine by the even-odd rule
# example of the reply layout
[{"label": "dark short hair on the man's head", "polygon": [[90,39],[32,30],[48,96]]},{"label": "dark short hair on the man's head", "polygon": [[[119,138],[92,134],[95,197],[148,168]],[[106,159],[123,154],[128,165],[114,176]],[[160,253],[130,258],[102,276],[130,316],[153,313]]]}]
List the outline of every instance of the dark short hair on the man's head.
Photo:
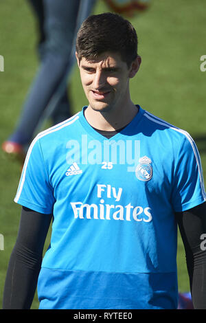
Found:
[{"label": "dark short hair on the man's head", "polygon": [[106,12],[89,16],[80,27],[76,38],[78,58],[97,58],[104,52],[120,54],[130,67],[137,58],[137,33],[130,21],[119,14]]}]

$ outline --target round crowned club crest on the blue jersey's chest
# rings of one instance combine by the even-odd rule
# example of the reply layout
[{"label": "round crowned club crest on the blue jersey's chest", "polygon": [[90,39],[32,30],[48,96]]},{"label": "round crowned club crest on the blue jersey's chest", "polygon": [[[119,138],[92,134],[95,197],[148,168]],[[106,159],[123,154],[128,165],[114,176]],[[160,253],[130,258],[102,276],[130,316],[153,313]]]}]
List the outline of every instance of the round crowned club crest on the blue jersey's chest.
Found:
[{"label": "round crowned club crest on the blue jersey's chest", "polygon": [[152,178],[152,163],[147,156],[139,158],[139,164],[135,170],[135,175],[140,181],[149,181]]}]

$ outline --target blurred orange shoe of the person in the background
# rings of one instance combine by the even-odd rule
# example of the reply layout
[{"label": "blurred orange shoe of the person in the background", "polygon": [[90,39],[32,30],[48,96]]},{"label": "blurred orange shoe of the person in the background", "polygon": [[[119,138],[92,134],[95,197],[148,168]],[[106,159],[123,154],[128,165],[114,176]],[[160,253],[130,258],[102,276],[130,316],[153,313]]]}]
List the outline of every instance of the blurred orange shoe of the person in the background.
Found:
[{"label": "blurred orange shoe of the person in the background", "polygon": [[9,157],[18,159],[19,161],[21,161],[21,163],[25,161],[25,151],[23,150],[23,146],[21,144],[8,141],[3,142],[1,148]]}]

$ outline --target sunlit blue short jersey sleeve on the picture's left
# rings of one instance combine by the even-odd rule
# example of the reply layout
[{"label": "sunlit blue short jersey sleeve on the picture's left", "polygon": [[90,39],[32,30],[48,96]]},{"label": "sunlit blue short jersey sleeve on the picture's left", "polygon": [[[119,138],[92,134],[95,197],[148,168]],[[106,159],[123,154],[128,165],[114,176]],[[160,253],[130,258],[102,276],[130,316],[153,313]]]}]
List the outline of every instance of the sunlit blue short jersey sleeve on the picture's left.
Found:
[{"label": "sunlit blue short jersey sleeve on the picture's left", "polygon": [[37,138],[27,152],[14,201],[43,214],[53,212],[53,190],[49,183],[41,143]]}]

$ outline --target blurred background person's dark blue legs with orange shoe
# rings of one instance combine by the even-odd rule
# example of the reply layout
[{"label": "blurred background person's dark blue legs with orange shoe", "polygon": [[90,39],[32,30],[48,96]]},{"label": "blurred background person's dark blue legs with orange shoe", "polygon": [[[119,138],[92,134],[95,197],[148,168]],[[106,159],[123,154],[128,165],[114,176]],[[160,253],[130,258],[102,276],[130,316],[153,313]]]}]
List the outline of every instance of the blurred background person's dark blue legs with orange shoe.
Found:
[{"label": "blurred background person's dark blue legs with orange shoe", "polygon": [[58,124],[71,117],[67,76],[75,62],[76,31],[96,0],[27,0],[38,23],[41,65],[27,95],[14,132],[2,149],[21,161],[36,132],[48,118]]}]

